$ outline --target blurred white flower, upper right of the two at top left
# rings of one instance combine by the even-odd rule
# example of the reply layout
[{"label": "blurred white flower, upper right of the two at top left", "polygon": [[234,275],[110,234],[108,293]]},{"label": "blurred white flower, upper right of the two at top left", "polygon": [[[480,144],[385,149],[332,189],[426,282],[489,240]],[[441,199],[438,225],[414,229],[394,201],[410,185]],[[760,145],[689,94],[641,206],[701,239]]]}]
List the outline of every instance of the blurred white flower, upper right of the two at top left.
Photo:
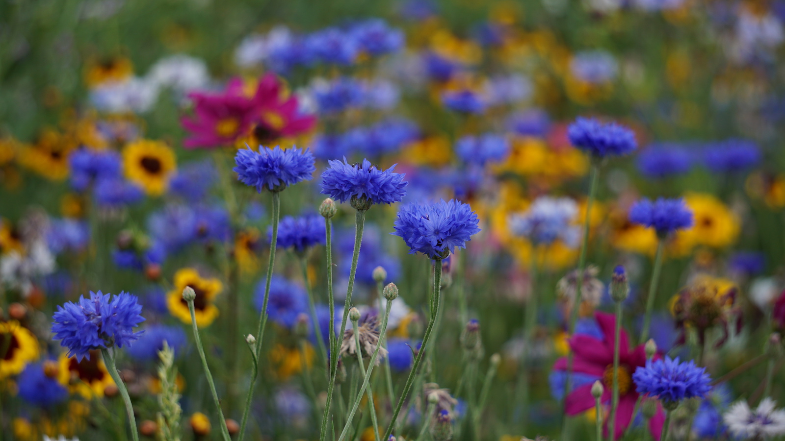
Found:
[{"label": "blurred white flower, upper right of the two at top left", "polygon": [[210,82],[210,75],[203,60],[177,54],[166,56],[153,64],[147,79],[152,86],[170,87],[177,92],[187,93],[206,86]]}]

